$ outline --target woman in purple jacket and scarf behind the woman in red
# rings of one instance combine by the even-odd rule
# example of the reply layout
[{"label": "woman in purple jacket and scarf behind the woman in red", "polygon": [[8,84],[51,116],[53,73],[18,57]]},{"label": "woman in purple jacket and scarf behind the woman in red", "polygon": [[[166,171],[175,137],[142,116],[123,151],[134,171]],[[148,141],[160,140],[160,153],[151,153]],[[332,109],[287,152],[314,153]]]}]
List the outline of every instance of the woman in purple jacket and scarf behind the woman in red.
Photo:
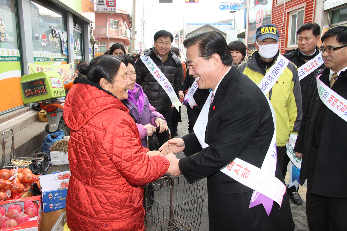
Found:
[{"label": "woman in purple jacket and scarf behind the woman in red", "polygon": [[155,111],[151,106],[147,96],[143,93],[142,87],[135,83],[136,73],[134,69],[135,61],[126,54],[118,55],[125,60],[125,65],[128,71],[128,78],[132,81],[129,85],[128,99],[122,100],[122,103],[130,110],[130,115],[135,119],[138,131],[140,133],[142,146],[147,147],[146,135],[152,136],[155,132],[155,126],[159,127],[159,132],[162,133],[168,130],[164,117]]}]

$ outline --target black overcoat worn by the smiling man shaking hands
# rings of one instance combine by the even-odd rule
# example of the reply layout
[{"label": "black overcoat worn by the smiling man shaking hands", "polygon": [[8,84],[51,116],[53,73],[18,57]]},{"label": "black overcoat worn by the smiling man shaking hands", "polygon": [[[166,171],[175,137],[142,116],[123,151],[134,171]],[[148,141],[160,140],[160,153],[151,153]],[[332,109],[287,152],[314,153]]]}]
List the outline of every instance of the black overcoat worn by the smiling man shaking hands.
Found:
[{"label": "black overcoat worn by the smiling man shaking hands", "polygon": [[[214,109],[213,109],[214,107]],[[179,167],[189,183],[207,177],[210,231],[292,231],[287,194],[268,216],[262,204],[249,208],[253,190],[219,169],[236,157],[261,168],[274,131],[269,104],[259,87],[232,67],[220,82],[210,106],[205,142],[194,133],[183,137],[186,158]],[[197,153],[193,155],[194,153]],[[276,177],[284,184],[277,165]]]}]

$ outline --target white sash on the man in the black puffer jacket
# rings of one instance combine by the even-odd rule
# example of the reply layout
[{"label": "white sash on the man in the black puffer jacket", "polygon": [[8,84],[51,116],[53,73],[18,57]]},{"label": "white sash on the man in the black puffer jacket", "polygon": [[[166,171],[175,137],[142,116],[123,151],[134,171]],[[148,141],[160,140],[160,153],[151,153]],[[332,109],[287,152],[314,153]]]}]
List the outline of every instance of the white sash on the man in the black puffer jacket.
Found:
[{"label": "white sash on the man in the black puffer jacket", "polygon": [[168,94],[172,102],[172,105],[174,105],[176,109],[179,110],[179,107],[182,104],[176,95],[175,89],[172,88],[170,81],[165,77],[165,75],[163,74],[163,72],[161,72],[158,66],[155,65],[155,63],[153,62],[150,56],[142,55],[140,58],[142,62],[146,65],[147,69],[151,72],[154,79],[160,84],[160,86]]}]

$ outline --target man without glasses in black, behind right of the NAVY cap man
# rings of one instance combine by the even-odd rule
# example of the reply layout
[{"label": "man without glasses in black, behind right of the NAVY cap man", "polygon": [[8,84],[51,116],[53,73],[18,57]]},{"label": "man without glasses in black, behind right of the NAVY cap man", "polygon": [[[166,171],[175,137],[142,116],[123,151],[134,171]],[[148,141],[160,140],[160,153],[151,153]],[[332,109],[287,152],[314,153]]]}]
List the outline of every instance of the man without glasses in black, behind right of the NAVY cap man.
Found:
[{"label": "man without glasses in black, behind right of the NAVY cap man", "polygon": [[[298,68],[306,64],[308,61],[313,59],[319,54],[317,44],[321,40],[321,27],[316,23],[305,23],[296,31],[298,36],[298,48],[295,50],[287,51],[283,56],[285,56],[289,61],[294,63]],[[303,112],[305,112],[306,101],[308,97],[308,91],[310,91],[311,82],[313,75],[320,72],[325,68],[324,64],[315,67],[315,70],[308,74],[305,78],[300,80],[301,87],[301,99],[303,105]],[[289,157],[285,157],[285,163],[289,163]],[[298,194],[298,189],[295,186],[288,188],[287,192],[290,195],[291,200],[295,204],[302,204],[302,199]]]}]

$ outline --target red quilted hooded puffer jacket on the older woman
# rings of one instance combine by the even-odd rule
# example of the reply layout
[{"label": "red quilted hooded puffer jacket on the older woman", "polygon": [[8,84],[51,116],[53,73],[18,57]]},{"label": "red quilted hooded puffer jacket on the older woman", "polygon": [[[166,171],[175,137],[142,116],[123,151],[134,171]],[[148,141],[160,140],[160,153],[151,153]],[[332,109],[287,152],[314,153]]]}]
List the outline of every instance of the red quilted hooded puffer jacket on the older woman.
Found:
[{"label": "red quilted hooded puffer jacket on the older woman", "polygon": [[66,196],[71,231],[144,230],[143,185],[170,162],[150,158],[129,110],[99,85],[77,78],[64,105],[71,128]]}]

